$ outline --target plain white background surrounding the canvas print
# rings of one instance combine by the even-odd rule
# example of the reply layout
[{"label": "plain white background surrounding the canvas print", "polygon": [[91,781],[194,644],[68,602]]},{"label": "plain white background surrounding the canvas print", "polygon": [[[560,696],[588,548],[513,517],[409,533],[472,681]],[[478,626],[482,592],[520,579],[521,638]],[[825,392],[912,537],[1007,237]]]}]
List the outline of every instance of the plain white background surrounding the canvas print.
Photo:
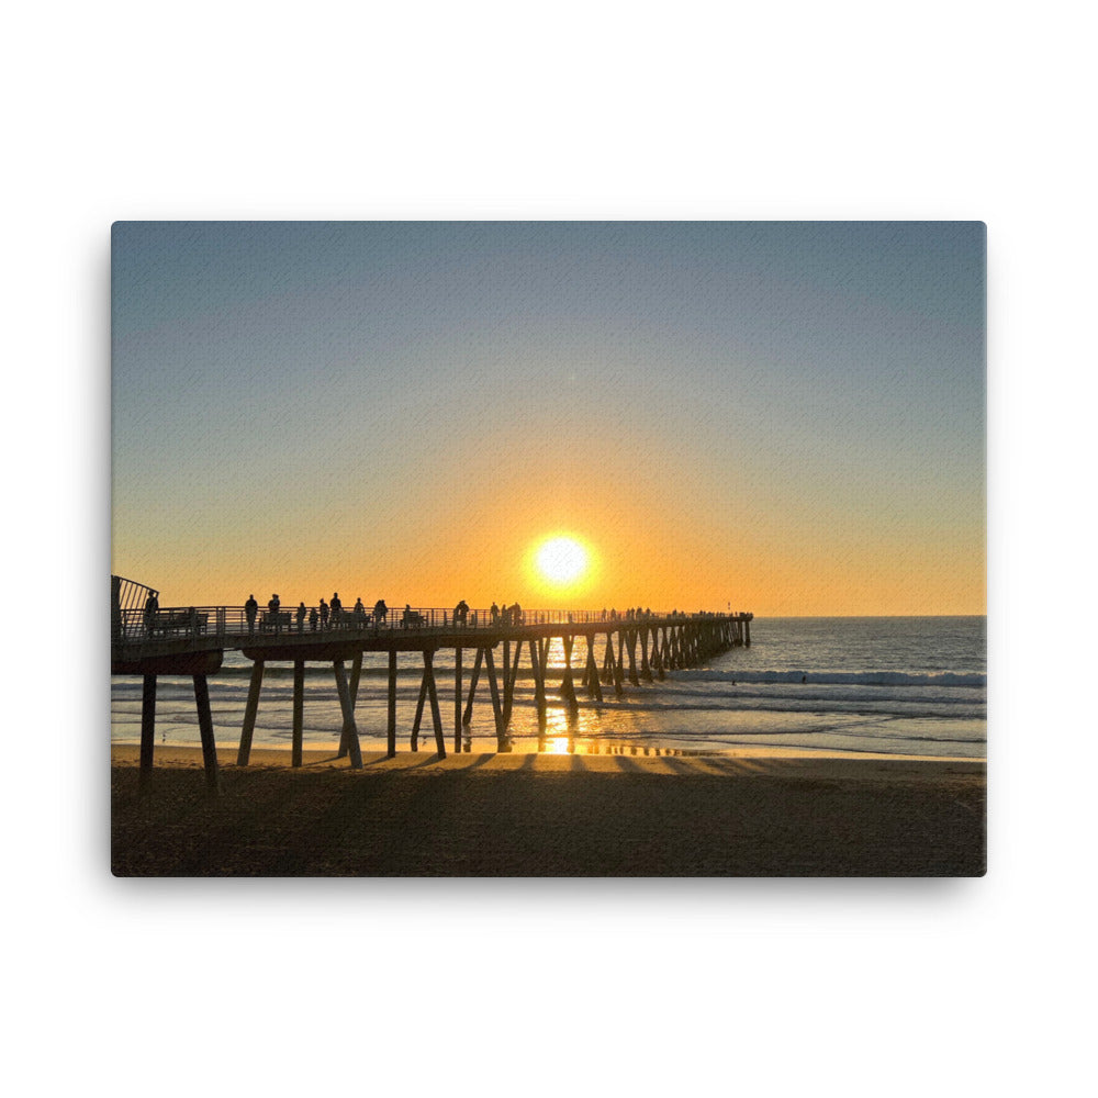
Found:
[{"label": "plain white background surrounding the canvas print", "polygon": [[[1082,5],[1012,10],[8,13],[13,1094],[1090,1077],[1093,40]],[[986,221],[988,875],[112,878],[110,225],[186,217]]]}]

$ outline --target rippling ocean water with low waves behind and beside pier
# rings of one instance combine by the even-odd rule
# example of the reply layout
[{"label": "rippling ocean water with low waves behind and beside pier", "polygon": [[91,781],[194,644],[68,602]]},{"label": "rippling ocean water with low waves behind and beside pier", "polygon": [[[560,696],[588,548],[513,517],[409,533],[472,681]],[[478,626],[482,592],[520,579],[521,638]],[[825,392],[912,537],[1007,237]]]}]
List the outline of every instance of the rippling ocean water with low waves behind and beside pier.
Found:
[{"label": "rippling ocean water with low waves behind and beside pier", "polygon": [[[534,680],[524,651],[507,748],[516,752],[690,754],[744,748],[805,752],[909,754],[983,759],[987,748],[986,618],[862,617],[762,618],[751,623],[751,646],[735,648],[706,665],[669,672],[663,681],[628,680],[621,698],[603,687],[590,701],[579,686],[586,657],[582,639],[572,654],[579,712],[559,699],[560,677],[548,685],[548,724],[538,727]],[[602,640],[597,645],[601,665]],[[496,656],[496,665],[501,657]],[[550,668],[563,666],[559,641]],[[225,653],[210,676],[214,736],[221,747],[239,742],[250,661]],[[472,653],[463,657],[468,693]],[[447,751],[453,748],[452,653],[435,659]],[[401,653],[397,680],[397,750],[410,750],[419,695],[422,660]],[[253,746],[289,748],[293,676],[289,664],[270,664],[264,677]],[[141,740],[142,681],[111,681],[111,741]],[[388,658],[367,653],[356,722],[363,751],[383,751],[388,719]],[[304,747],[338,743],[339,702],[330,666],[309,665]],[[194,694],[188,677],[161,676],[157,687],[156,742],[198,744]],[[481,676],[462,750],[497,750],[488,682]],[[430,707],[419,729],[419,751],[434,751]]]}]

